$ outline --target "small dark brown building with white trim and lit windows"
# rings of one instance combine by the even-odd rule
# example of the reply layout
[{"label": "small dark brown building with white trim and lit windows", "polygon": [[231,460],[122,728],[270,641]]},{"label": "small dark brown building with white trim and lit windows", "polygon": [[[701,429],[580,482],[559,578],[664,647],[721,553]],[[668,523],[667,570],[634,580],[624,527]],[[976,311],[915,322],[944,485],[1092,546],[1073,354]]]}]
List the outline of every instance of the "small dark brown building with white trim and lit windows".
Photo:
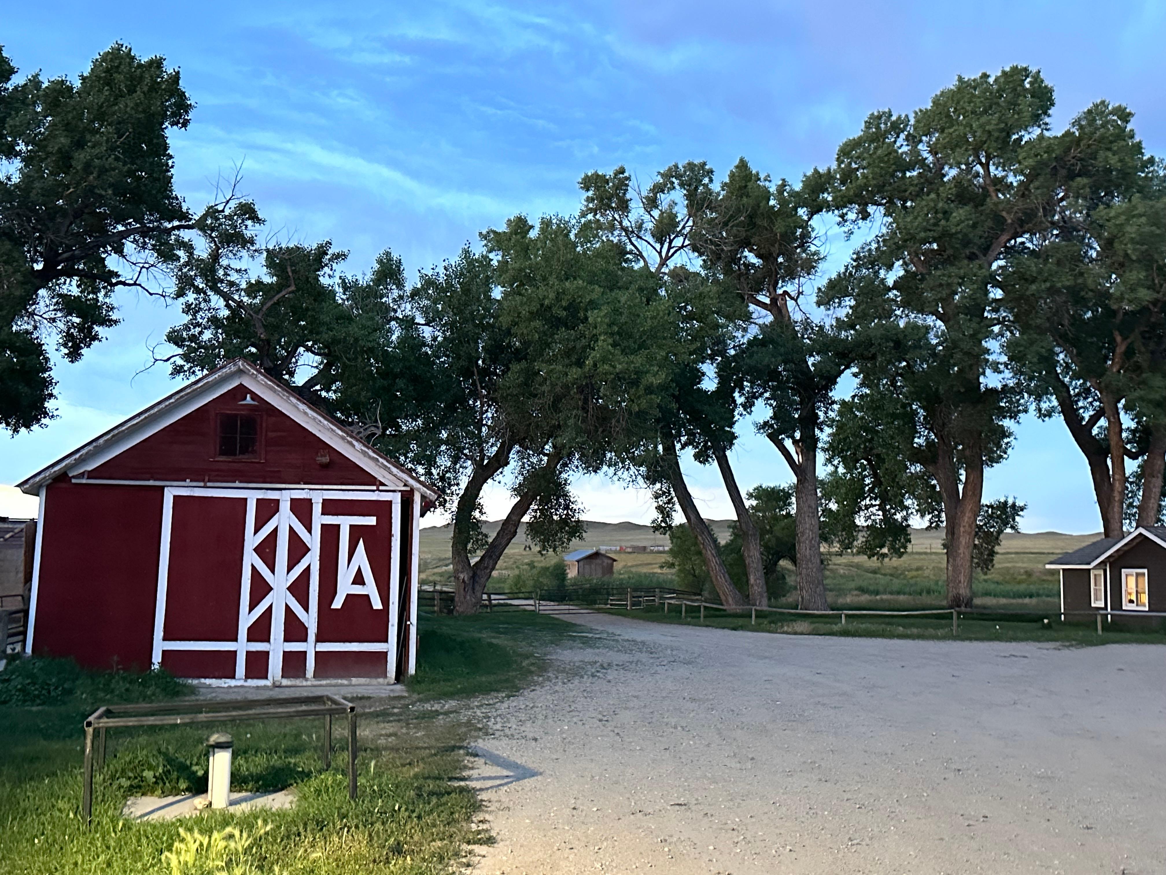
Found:
[{"label": "small dark brown building with white trim and lit windows", "polygon": [[[1101,538],[1058,556],[1046,568],[1061,573],[1061,618],[1108,612],[1110,622],[1166,612],[1166,526],[1137,528],[1124,538]],[[1121,614],[1118,614],[1118,611]],[[1151,624],[1151,617],[1142,618]],[[1154,617],[1157,625],[1160,618]]]}]

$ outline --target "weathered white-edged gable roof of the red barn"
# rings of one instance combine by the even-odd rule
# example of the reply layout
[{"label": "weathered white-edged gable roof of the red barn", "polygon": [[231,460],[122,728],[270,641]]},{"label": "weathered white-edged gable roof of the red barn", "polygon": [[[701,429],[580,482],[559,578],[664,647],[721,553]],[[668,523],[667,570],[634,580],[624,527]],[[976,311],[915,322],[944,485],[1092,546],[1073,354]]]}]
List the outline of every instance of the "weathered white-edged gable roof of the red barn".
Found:
[{"label": "weathered white-edged gable roof of the red barn", "polygon": [[415,489],[430,502],[440,497],[436,489],[408,468],[373,449],[331,416],[243,358],[227,362],[199,377],[16,485],[29,495],[36,495],[42,485],[62,474],[70,477],[83,475],[239,385],[254,392],[385,485]]}]

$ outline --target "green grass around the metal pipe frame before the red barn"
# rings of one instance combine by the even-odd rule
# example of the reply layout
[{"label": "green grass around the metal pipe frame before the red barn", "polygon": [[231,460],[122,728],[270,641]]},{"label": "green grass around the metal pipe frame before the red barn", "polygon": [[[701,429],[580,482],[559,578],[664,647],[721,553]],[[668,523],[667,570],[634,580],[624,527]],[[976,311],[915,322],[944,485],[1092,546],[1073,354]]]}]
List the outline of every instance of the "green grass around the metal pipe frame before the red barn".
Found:
[{"label": "green grass around the metal pipe frame before the red barn", "polygon": [[[356,803],[347,799],[340,732],[332,768],[321,768],[318,719],[111,730],[91,830],[79,819],[82,720],[99,705],[189,691],[162,674],[85,673],[40,659],[10,665],[0,673],[0,869],[5,875],[450,872],[468,845],[489,835],[475,826],[477,798],[456,780],[472,727],[449,700],[519,690],[542,670],[540,651],[570,629],[534,614],[422,615],[413,694],[361,714]],[[121,819],[129,796],[205,791],[203,742],[217,730],[236,738],[234,789],[295,786],[296,805],[169,822]]]}]

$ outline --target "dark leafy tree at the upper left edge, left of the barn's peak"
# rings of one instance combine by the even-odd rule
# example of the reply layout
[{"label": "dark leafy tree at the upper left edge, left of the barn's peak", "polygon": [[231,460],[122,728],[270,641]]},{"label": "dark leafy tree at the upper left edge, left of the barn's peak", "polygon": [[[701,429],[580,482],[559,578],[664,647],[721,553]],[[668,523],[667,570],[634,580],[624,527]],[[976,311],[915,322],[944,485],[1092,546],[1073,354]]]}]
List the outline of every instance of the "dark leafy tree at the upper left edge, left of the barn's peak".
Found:
[{"label": "dark leafy tree at the upper left edge, left of the barn's peak", "polygon": [[78,360],[118,323],[118,289],[159,293],[154,272],[198,224],[174,191],[169,132],[191,111],[177,70],[117,43],[76,83],[15,76],[0,50],[0,426],[13,432],[52,415],[51,349]]}]

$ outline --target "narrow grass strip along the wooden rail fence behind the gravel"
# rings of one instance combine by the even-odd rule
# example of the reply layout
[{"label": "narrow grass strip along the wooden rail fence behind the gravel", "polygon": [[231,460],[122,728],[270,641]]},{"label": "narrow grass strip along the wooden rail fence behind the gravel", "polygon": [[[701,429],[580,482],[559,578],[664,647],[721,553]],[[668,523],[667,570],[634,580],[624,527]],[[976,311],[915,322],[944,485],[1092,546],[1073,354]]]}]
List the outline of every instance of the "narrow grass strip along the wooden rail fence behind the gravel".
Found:
[{"label": "narrow grass strip along the wooden rail fence behind the gravel", "polygon": [[[929,606],[930,607],[930,606]],[[1055,606],[1054,606],[1055,608]],[[837,610],[837,608],[835,607]],[[883,610],[884,608],[872,608]],[[857,610],[857,608],[856,608]],[[704,621],[701,622],[700,609],[688,608],[687,618],[681,620],[680,608],[669,606],[665,614],[662,608],[609,610],[609,614],[626,616],[633,620],[646,620],[656,623],[676,625],[705,625],[716,629],[733,629],[749,632],[778,632],[784,635],[834,635],[871,638],[935,638],[951,640],[951,615],[936,617],[857,617],[848,616],[843,625],[840,617],[803,617],[793,614],[758,614],[757,623],[750,622],[746,609],[744,614],[728,614],[719,609],[707,608]],[[1048,620],[1048,623],[1045,623]],[[978,615],[962,614],[960,631],[954,636],[957,640],[1032,640],[1053,644],[1096,645],[1096,644],[1166,644],[1166,631],[1131,631],[1116,625],[1105,625],[1102,635],[1093,623],[1062,623],[1055,612],[1016,616],[1007,610],[983,612]]]}]

